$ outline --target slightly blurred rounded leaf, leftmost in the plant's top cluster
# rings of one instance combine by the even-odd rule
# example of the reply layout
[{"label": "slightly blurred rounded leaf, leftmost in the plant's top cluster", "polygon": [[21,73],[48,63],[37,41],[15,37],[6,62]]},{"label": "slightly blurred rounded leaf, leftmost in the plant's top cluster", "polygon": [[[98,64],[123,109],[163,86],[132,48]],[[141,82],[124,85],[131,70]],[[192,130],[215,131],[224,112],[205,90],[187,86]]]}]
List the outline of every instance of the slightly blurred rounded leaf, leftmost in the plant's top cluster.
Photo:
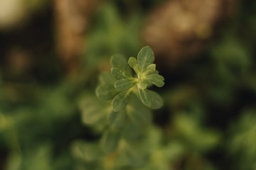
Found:
[{"label": "slightly blurred rounded leaf, leftmost in the plant's top cluster", "polygon": [[110,84],[101,84],[97,86],[96,95],[101,100],[110,100],[118,94],[118,91],[114,89],[113,85]]}]

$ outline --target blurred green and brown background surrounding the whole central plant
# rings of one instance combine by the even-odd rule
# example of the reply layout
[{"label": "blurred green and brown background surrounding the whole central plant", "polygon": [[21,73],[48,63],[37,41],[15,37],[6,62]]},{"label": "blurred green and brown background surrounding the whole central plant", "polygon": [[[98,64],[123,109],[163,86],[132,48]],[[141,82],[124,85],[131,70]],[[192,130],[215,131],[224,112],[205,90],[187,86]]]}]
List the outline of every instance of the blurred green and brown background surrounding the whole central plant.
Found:
[{"label": "blurred green and brown background surrounding the whole central plant", "polygon": [[166,84],[144,169],[255,170],[255,40],[253,0],[1,0],[0,169],[124,169],[73,146],[100,139],[83,106],[111,55],[149,45]]}]

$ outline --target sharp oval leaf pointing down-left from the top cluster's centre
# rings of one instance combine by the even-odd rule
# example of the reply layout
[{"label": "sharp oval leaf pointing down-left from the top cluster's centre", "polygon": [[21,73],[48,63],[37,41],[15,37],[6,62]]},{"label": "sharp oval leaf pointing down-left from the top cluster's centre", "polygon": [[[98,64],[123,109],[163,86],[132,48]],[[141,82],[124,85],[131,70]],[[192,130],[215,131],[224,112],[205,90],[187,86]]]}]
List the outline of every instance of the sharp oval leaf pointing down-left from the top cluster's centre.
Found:
[{"label": "sharp oval leaf pointing down-left from the top cluster's centre", "polygon": [[122,91],[121,93],[117,94],[112,101],[112,108],[114,111],[121,111],[127,103],[129,102],[130,92],[129,91]]}]

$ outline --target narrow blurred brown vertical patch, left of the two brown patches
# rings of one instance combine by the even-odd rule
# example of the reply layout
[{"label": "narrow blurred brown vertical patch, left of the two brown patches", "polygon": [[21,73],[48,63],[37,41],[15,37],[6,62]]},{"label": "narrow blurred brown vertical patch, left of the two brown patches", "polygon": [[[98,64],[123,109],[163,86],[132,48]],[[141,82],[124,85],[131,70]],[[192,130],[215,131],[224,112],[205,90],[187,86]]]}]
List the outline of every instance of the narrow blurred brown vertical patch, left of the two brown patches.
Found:
[{"label": "narrow blurred brown vertical patch, left of the two brown patches", "polygon": [[55,42],[66,72],[76,72],[90,15],[101,0],[54,0]]}]

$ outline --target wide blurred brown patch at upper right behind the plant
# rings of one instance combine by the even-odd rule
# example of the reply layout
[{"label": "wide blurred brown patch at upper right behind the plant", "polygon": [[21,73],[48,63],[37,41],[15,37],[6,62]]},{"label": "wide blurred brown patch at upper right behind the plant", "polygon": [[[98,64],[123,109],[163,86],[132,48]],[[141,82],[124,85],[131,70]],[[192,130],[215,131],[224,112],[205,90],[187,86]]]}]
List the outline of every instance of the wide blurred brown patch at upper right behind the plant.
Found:
[{"label": "wide blurred brown patch at upper right behind the plant", "polygon": [[234,11],[234,0],[166,1],[149,14],[144,41],[161,57],[161,63],[176,67],[199,55],[218,24]]}]

